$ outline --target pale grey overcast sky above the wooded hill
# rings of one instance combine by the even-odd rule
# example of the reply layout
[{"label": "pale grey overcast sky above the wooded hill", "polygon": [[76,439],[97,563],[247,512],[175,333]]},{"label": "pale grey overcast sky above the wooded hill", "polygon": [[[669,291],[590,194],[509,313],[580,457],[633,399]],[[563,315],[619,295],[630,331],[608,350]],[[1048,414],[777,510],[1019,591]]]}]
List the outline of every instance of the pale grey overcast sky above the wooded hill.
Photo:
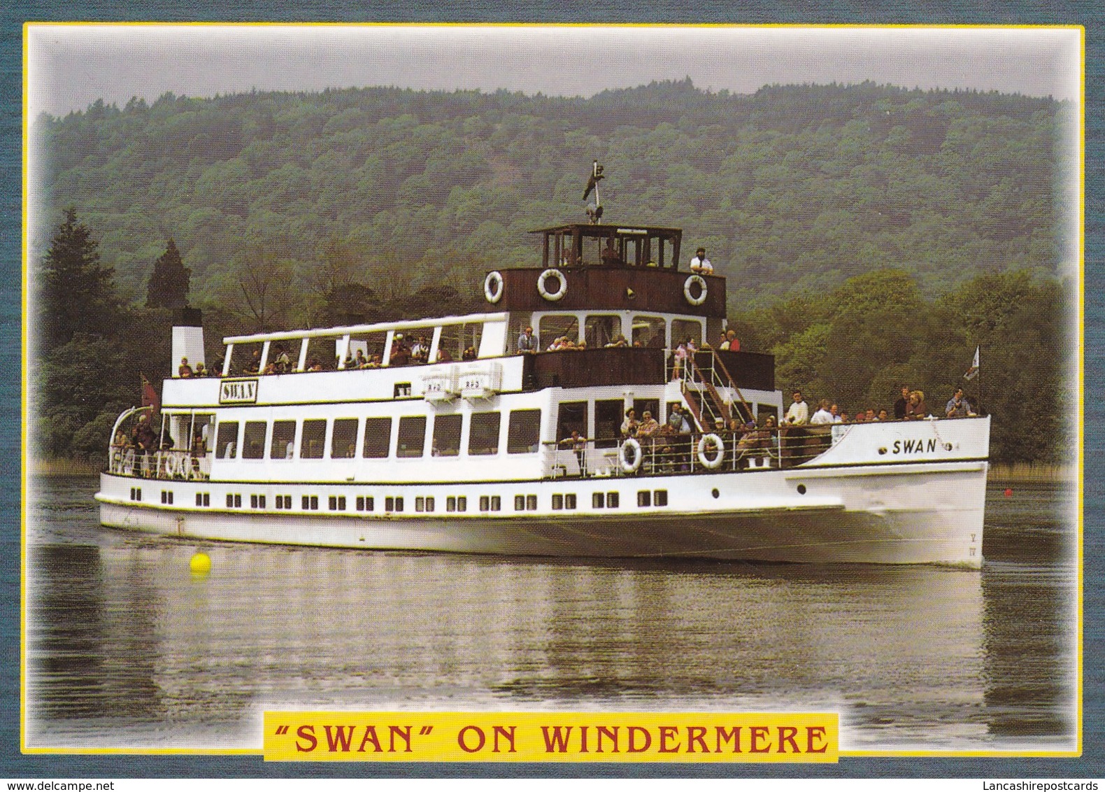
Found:
[{"label": "pale grey overcast sky above the wooded hill", "polygon": [[28,102],[64,115],[178,95],[396,85],[590,96],[690,76],[979,88],[1078,100],[1077,29],[528,25],[32,25]]}]

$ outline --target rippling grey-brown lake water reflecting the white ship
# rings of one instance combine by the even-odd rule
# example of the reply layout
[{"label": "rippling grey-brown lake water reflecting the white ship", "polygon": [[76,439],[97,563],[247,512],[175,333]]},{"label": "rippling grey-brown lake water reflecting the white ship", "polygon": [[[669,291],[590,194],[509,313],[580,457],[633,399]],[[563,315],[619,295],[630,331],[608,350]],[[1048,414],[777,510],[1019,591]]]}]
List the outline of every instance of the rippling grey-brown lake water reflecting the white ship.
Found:
[{"label": "rippling grey-brown lake water reflecting the white ship", "polygon": [[1075,747],[1066,487],[991,486],[967,571],[181,541],[101,528],[96,483],[32,482],[29,747],[256,749],[266,709],[831,710],[842,750]]}]

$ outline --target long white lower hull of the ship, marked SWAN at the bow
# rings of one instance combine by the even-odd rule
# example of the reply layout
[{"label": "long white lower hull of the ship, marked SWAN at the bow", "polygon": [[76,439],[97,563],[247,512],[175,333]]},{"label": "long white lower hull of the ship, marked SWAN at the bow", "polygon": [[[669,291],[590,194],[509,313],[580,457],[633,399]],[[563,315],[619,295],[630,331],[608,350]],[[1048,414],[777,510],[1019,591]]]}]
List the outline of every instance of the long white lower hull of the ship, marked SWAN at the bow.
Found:
[{"label": "long white lower hull of the ship, marked SWAN at the bow", "polygon": [[[299,503],[311,492],[313,513],[223,509],[242,482],[187,482],[102,476],[105,525],[190,539],[373,550],[421,550],[589,557],[709,557],[808,563],[936,563],[979,567],[987,462],[898,462],[791,468],[754,472],[512,481],[483,484],[273,484],[245,489],[271,507],[280,493]],[[131,490],[146,488],[143,502]],[[171,488],[176,506],[150,503]],[[666,491],[665,506],[640,506]],[[714,492],[717,492],[715,496]],[[194,508],[196,493],[210,508]],[[502,510],[481,512],[483,493]],[[619,506],[597,508],[618,492]],[[450,494],[464,493],[469,510],[444,513]],[[551,511],[554,493],[572,493],[578,507]],[[330,496],[351,504],[371,496],[373,512],[327,512]],[[401,497],[402,513],[382,512],[385,494]],[[534,494],[540,510],[514,511],[515,496]],[[433,497],[434,513],[415,513],[415,498]],[[244,504],[249,507],[249,502]]]}]

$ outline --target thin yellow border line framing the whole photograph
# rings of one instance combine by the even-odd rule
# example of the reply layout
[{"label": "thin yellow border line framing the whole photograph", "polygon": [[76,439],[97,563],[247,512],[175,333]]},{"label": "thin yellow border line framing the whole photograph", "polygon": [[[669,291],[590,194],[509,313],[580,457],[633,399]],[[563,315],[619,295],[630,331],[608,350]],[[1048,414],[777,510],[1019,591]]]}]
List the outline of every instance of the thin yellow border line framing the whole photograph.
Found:
[{"label": "thin yellow border line framing the whole photograph", "polygon": [[22,148],[22,465],[21,465],[21,498],[20,498],[20,706],[19,706],[19,732],[20,751],[24,754],[94,754],[94,755],[263,755],[263,749],[189,749],[189,748],[165,748],[165,749],[127,749],[127,748],[29,748],[27,746],[27,500],[28,500],[28,441],[29,441],[29,408],[28,397],[30,394],[30,382],[28,375],[28,362],[30,359],[28,342],[28,308],[29,308],[29,283],[30,283],[30,241],[29,241],[29,175],[28,164],[30,158],[29,144],[29,37],[31,28],[36,27],[92,27],[92,28],[663,28],[672,30],[686,29],[799,29],[799,30],[1076,30],[1080,34],[1081,49],[1081,91],[1080,91],[1080,115],[1078,115],[1078,148],[1075,153],[1078,166],[1078,303],[1077,303],[1077,338],[1075,357],[1075,376],[1078,385],[1078,398],[1076,405],[1077,426],[1077,573],[1076,573],[1076,638],[1075,638],[1075,698],[1077,705],[1077,718],[1075,726],[1076,747],[1073,751],[896,751],[896,750],[841,750],[842,758],[904,758],[920,757],[930,759],[953,759],[953,758],[1076,758],[1082,755],[1083,750],[1083,627],[1084,627],[1084,557],[1083,557],[1083,531],[1084,531],[1084,470],[1085,460],[1085,428],[1083,395],[1085,393],[1085,117],[1086,117],[1086,29],[1081,24],[791,24],[791,23],[761,23],[761,24],[728,24],[728,23],[681,23],[681,24],[654,24],[654,23],[627,23],[627,22],[102,22],[102,21],[28,21],[23,23],[23,148]]}]

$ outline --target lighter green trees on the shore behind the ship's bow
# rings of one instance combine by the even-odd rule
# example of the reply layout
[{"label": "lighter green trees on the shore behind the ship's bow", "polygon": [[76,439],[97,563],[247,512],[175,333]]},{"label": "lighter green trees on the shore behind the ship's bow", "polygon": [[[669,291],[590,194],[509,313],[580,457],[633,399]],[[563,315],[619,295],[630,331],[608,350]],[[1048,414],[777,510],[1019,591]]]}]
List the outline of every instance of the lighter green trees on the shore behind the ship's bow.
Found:
[{"label": "lighter green trees on the shore behind the ship's bow", "polygon": [[[850,414],[892,411],[908,385],[940,416],[964,387],[968,402],[994,418],[993,459],[1071,462],[1069,304],[1059,281],[1029,272],[978,275],[927,300],[901,270],[876,270],[829,294],[739,314],[730,326],[775,338],[768,348],[778,387],[801,389],[810,404],[828,398]],[[962,374],[976,346],[980,375],[968,382]]]}]

